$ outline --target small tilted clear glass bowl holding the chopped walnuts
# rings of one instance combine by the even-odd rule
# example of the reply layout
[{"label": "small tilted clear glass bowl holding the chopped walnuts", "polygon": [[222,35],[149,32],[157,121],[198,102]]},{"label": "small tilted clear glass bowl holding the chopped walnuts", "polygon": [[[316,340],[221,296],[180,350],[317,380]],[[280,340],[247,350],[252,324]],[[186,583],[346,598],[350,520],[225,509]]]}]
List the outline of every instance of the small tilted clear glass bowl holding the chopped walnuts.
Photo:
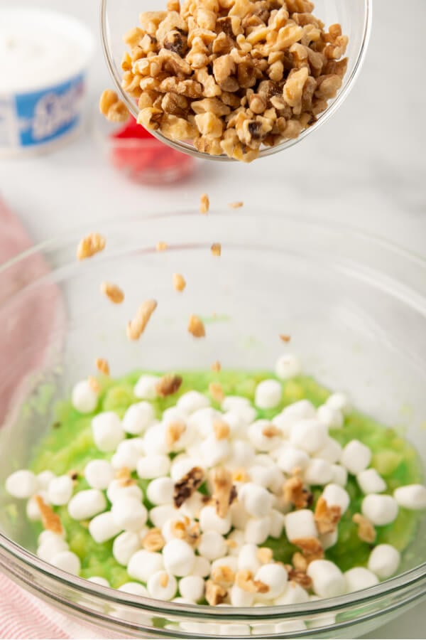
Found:
[{"label": "small tilted clear glass bowl holding the chopped walnuts", "polygon": [[[121,88],[121,60],[125,50],[123,36],[133,26],[138,25],[138,16],[141,11],[163,11],[165,9],[166,0],[102,0],[101,2],[101,33],[102,45],[104,48],[105,58],[111,78],[114,85],[119,91],[122,100],[135,117],[138,116],[138,107],[131,97]],[[343,80],[342,88],[339,90],[337,97],[329,102],[327,110],[318,118],[315,124],[305,129],[296,139],[287,140],[277,146],[266,147],[261,149],[260,157],[276,154],[278,151],[288,149],[293,144],[301,142],[308,135],[315,132],[318,127],[327,122],[329,117],[334,114],[340,105],[343,104],[349,91],[354,85],[361,65],[364,62],[368,39],[371,30],[371,8],[372,0],[316,0],[315,15],[322,19],[328,26],[334,23],[342,24],[344,33],[349,36],[349,46],[346,55],[349,58],[349,65]],[[195,149],[192,144],[187,142],[176,142],[169,140],[159,131],[151,131],[151,133],[165,144],[173,146],[174,149],[185,151],[192,156],[201,157],[209,160],[233,160],[226,155],[212,156],[202,153]]]}]

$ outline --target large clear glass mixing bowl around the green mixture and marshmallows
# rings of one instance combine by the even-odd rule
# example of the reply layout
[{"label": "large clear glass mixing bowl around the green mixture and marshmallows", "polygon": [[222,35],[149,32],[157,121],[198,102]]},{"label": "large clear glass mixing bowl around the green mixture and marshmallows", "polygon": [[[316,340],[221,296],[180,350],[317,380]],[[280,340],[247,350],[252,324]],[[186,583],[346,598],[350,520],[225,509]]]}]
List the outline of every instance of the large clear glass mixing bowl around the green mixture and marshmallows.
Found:
[{"label": "large clear glass mixing bowl around the green mixture and marshmallows", "polygon": [[[11,508],[4,479],[28,464],[51,428],[55,401],[94,373],[97,357],[109,360],[114,375],[209,368],[216,360],[224,369],[253,370],[271,368],[291,348],[307,373],[403,428],[426,466],[425,261],[348,228],[248,207],[102,223],[96,230],[106,250],[78,263],[77,242],[90,230],[67,233],[0,270],[1,570],[107,637],[354,638],[425,597],[425,522],[401,575],[295,606],[159,602],[99,587],[33,555],[25,506]],[[168,250],[155,251],[158,240]],[[222,242],[220,258],[211,255],[212,242]],[[183,294],[173,289],[173,272],[187,280]],[[103,280],[123,287],[124,304],[101,296]],[[126,321],[151,297],[158,309],[141,341],[130,343]],[[187,334],[190,314],[206,319],[204,340]],[[289,346],[278,338],[283,332]],[[275,626],[283,622],[289,625]]]}]

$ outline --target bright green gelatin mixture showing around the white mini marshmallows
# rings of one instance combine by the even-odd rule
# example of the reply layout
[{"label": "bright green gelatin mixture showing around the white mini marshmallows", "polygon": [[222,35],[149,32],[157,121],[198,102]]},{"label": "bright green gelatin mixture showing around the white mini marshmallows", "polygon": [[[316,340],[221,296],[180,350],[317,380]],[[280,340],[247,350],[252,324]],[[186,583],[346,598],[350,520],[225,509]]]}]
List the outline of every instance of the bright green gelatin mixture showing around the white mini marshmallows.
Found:
[{"label": "bright green gelatin mixture showing around the white mini marshmallows", "polygon": [[[102,390],[97,410],[92,415],[82,416],[72,407],[70,402],[61,402],[58,405],[53,428],[35,452],[31,469],[35,473],[50,469],[58,475],[66,474],[71,469],[79,471],[80,477],[77,480],[76,491],[87,489],[87,482],[82,477],[87,462],[92,459],[111,459],[111,454],[99,452],[94,446],[91,430],[92,417],[98,412],[107,410],[115,411],[119,417],[123,417],[126,409],[134,402],[139,401],[133,395],[133,385],[141,375],[141,371],[136,371],[119,380],[100,378],[99,383]],[[189,390],[198,390],[209,397],[209,383],[211,382],[220,383],[226,395],[243,395],[253,401],[256,385],[262,380],[275,378],[275,375],[268,371],[256,373],[192,371],[182,372],[181,375],[183,383],[177,394],[153,401],[158,418],[161,417],[163,410],[175,405],[180,395]],[[283,382],[283,397],[280,405],[273,410],[258,410],[258,418],[271,419],[285,406],[302,398],[307,398],[315,406],[319,406],[329,394],[329,390],[312,378],[307,376],[293,378]],[[212,398],[210,399],[212,407],[219,408],[218,403]],[[345,417],[344,427],[341,430],[330,430],[330,434],[343,446],[351,439],[359,439],[370,447],[373,452],[371,466],[375,467],[386,480],[389,494],[397,486],[413,484],[422,480],[420,459],[413,446],[400,437],[400,434],[395,430],[380,425],[370,417],[352,411]],[[133,473],[133,477],[141,489],[146,489],[149,481],[138,479],[136,473]],[[371,545],[359,539],[357,526],[352,522],[352,516],[360,511],[361,501],[364,497],[353,476],[349,476],[346,490],[351,496],[351,504],[339,523],[339,540],[334,547],[325,552],[325,557],[336,562],[342,571],[356,565],[366,565],[371,551]],[[314,487],[313,492],[316,500],[322,492],[322,488]],[[151,508],[152,505],[146,501],[146,506]],[[95,543],[87,530],[88,523],[73,521],[68,515],[66,506],[55,508],[55,510],[60,515],[67,531],[70,550],[74,551],[81,559],[82,577],[102,576],[109,580],[112,587],[119,587],[124,582],[131,580],[125,568],[114,560],[112,540],[104,544]],[[418,512],[401,508],[394,523],[376,528],[375,544],[388,543],[400,551],[405,550],[415,537],[419,519]],[[35,534],[40,533],[40,524],[35,523],[33,526]],[[274,559],[283,562],[290,562],[293,553],[297,550],[285,539],[285,535],[278,540],[268,538],[263,546],[270,547],[273,550]]]}]

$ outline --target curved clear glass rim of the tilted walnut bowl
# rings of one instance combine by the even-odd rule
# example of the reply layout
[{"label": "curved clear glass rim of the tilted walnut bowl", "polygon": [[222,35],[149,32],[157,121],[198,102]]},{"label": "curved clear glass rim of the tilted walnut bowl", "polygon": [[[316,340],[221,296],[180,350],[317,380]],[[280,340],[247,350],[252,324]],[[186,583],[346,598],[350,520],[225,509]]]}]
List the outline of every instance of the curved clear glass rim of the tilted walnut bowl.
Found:
[{"label": "curved clear glass rim of the tilted walnut bowl", "polygon": [[[101,0],[100,31],[101,31],[102,49],[104,51],[104,57],[107,62],[109,74],[111,75],[112,80],[114,80],[114,85],[116,85],[116,89],[119,91],[119,94],[121,95],[121,100],[124,101],[127,108],[129,109],[129,112],[131,112],[131,114],[133,114],[133,116],[137,118],[138,109],[135,103],[131,101],[129,95],[126,94],[123,87],[121,87],[121,81],[120,81],[120,78],[117,78],[116,76],[115,68],[114,68],[115,67],[114,60],[111,58],[111,53],[108,46],[108,35],[107,35],[108,33],[108,24],[107,24],[108,23],[108,8],[107,8],[108,1],[110,0]],[[332,102],[332,105],[327,107],[324,113],[321,114],[321,116],[317,119],[317,122],[315,122],[315,124],[312,124],[312,127],[308,127],[307,129],[302,131],[300,136],[298,136],[295,139],[286,140],[285,142],[282,142],[277,146],[271,146],[271,147],[267,147],[266,149],[262,149],[261,153],[258,156],[259,158],[266,158],[267,156],[276,154],[279,151],[283,151],[284,149],[290,149],[291,146],[294,146],[298,142],[302,142],[302,140],[304,140],[308,135],[316,131],[319,127],[322,126],[322,124],[325,124],[325,122],[327,122],[327,120],[330,117],[332,117],[332,115],[335,112],[337,112],[339,107],[341,107],[344,101],[346,100],[346,97],[348,97],[352,87],[354,87],[354,82],[356,78],[358,78],[359,72],[361,71],[362,65],[364,64],[364,59],[368,49],[368,42],[371,36],[371,23],[373,18],[373,0],[353,0],[353,1],[364,3],[365,20],[364,20],[364,29],[363,29],[361,48],[359,50],[358,58],[356,60],[356,64],[354,65],[354,69],[352,70],[351,75],[349,76],[349,78],[346,78],[342,90],[339,91],[336,99],[334,100],[334,102]],[[214,161],[236,162],[234,158],[229,158],[226,155],[212,156],[205,152],[198,151],[197,149],[195,149],[195,147],[191,146],[190,144],[186,144],[185,142],[170,140],[165,136],[163,136],[163,134],[161,134],[158,130],[152,130],[152,131],[150,130],[150,133],[153,134],[155,138],[160,140],[160,142],[164,142],[164,144],[168,144],[168,146],[173,147],[173,149],[176,149],[177,151],[182,151],[185,154],[190,154],[195,158],[202,158],[205,160],[214,160]]]}]

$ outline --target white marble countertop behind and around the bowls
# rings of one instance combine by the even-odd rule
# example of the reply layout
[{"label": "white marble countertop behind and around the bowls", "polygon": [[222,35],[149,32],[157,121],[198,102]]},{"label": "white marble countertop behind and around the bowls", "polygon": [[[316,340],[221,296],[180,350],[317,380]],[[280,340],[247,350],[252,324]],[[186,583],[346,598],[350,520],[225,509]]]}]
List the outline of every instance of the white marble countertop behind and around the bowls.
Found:
[{"label": "white marble countertop behind and around the bowls", "polygon": [[[0,0],[0,5],[15,0]],[[95,0],[20,0],[81,18],[97,35],[89,100],[111,85],[100,51]],[[426,255],[426,85],[421,43],[425,0],[375,0],[371,48],[361,77],[336,116],[283,154],[246,166],[204,162],[182,184],[161,190],[114,172],[89,135],[54,154],[0,161],[0,193],[35,241],[87,220],[180,206],[200,193],[218,206],[267,199],[291,213],[340,220]],[[413,19],[412,19],[413,18]],[[411,43],[417,43],[416,45]],[[220,186],[220,188],[218,188]],[[422,638],[421,605],[383,626],[375,638]]]}]

